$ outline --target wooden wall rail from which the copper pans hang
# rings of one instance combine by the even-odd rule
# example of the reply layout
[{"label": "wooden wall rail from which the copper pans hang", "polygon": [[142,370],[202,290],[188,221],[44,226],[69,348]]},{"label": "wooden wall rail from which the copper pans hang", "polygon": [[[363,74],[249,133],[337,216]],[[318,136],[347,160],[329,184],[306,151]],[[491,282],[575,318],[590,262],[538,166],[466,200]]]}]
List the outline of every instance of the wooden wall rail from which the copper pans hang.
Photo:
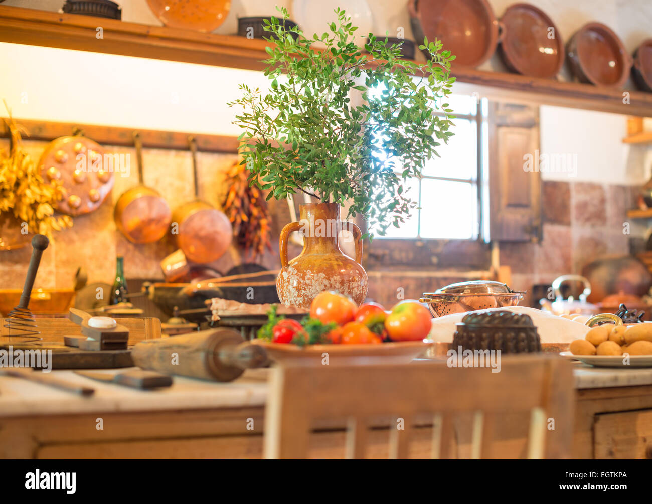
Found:
[{"label": "wooden wall rail from which the copper pans hang", "polygon": [[[142,130],[137,128],[121,128],[118,126],[83,125],[77,123],[52,123],[46,121],[30,121],[14,118],[16,124],[24,126],[29,135],[24,140],[52,141],[61,136],[71,135],[75,128],[100,145],[120,145],[134,147],[134,131],[140,132],[143,147],[146,149],[188,150],[188,136],[197,140],[197,150],[209,153],[237,153],[239,141],[235,136],[206,135],[158,130]],[[0,118],[0,123],[1,123]],[[8,138],[8,129],[0,128],[0,138]]]}]

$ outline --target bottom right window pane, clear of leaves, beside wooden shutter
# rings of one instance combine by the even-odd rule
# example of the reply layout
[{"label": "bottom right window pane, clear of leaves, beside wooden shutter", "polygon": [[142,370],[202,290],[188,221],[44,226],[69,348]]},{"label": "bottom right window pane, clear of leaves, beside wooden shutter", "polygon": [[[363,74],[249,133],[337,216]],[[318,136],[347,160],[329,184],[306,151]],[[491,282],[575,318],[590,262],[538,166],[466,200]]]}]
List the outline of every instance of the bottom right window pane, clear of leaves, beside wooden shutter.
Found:
[{"label": "bottom right window pane, clear of leaves, beside wooden shutter", "polygon": [[471,239],[475,230],[475,185],[437,179],[421,181],[421,237]]}]

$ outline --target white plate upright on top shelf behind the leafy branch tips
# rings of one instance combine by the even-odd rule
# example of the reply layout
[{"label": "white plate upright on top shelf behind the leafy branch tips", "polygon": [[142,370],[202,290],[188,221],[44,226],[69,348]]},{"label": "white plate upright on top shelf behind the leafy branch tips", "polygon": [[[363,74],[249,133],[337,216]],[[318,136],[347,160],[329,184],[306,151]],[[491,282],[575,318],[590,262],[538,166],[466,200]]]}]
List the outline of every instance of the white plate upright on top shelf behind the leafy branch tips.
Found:
[{"label": "white plate upright on top shelf behind the leafy branch tips", "polygon": [[346,10],[353,26],[358,27],[356,40],[363,37],[358,45],[364,44],[367,35],[374,31],[374,18],[366,0],[294,0],[292,18],[306,37],[310,38],[314,33],[321,37],[325,31],[330,32],[328,23],[337,19],[337,14],[333,11],[338,7]]}]

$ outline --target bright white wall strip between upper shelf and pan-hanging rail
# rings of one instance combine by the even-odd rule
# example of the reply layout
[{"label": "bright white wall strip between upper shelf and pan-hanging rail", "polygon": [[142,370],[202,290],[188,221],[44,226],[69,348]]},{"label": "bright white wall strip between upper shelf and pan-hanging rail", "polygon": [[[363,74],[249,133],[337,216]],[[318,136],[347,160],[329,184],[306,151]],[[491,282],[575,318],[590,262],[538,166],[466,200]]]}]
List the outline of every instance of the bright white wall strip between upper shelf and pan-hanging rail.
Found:
[{"label": "bright white wall strip between upper shelf and pan-hanging rail", "polygon": [[0,68],[14,117],[233,136],[238,85],[268,85],[252,70],[1,42]]}]

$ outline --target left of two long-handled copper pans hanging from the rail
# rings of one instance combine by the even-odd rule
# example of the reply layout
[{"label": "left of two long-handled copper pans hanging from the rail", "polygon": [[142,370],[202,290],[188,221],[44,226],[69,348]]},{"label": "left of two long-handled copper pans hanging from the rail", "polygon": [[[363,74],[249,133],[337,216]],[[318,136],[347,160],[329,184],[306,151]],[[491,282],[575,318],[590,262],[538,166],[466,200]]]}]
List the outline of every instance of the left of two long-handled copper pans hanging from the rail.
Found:
[{"label": "left of two long-handled copper pans hanging from the rail", "polygon": [[160,240],[170,229],[172,212],[168,202],[158,191],[143,184],[143,143],[134,132],[138,185],[120,196],[115,203],[115,225],[132,243],[152,243]]}]

